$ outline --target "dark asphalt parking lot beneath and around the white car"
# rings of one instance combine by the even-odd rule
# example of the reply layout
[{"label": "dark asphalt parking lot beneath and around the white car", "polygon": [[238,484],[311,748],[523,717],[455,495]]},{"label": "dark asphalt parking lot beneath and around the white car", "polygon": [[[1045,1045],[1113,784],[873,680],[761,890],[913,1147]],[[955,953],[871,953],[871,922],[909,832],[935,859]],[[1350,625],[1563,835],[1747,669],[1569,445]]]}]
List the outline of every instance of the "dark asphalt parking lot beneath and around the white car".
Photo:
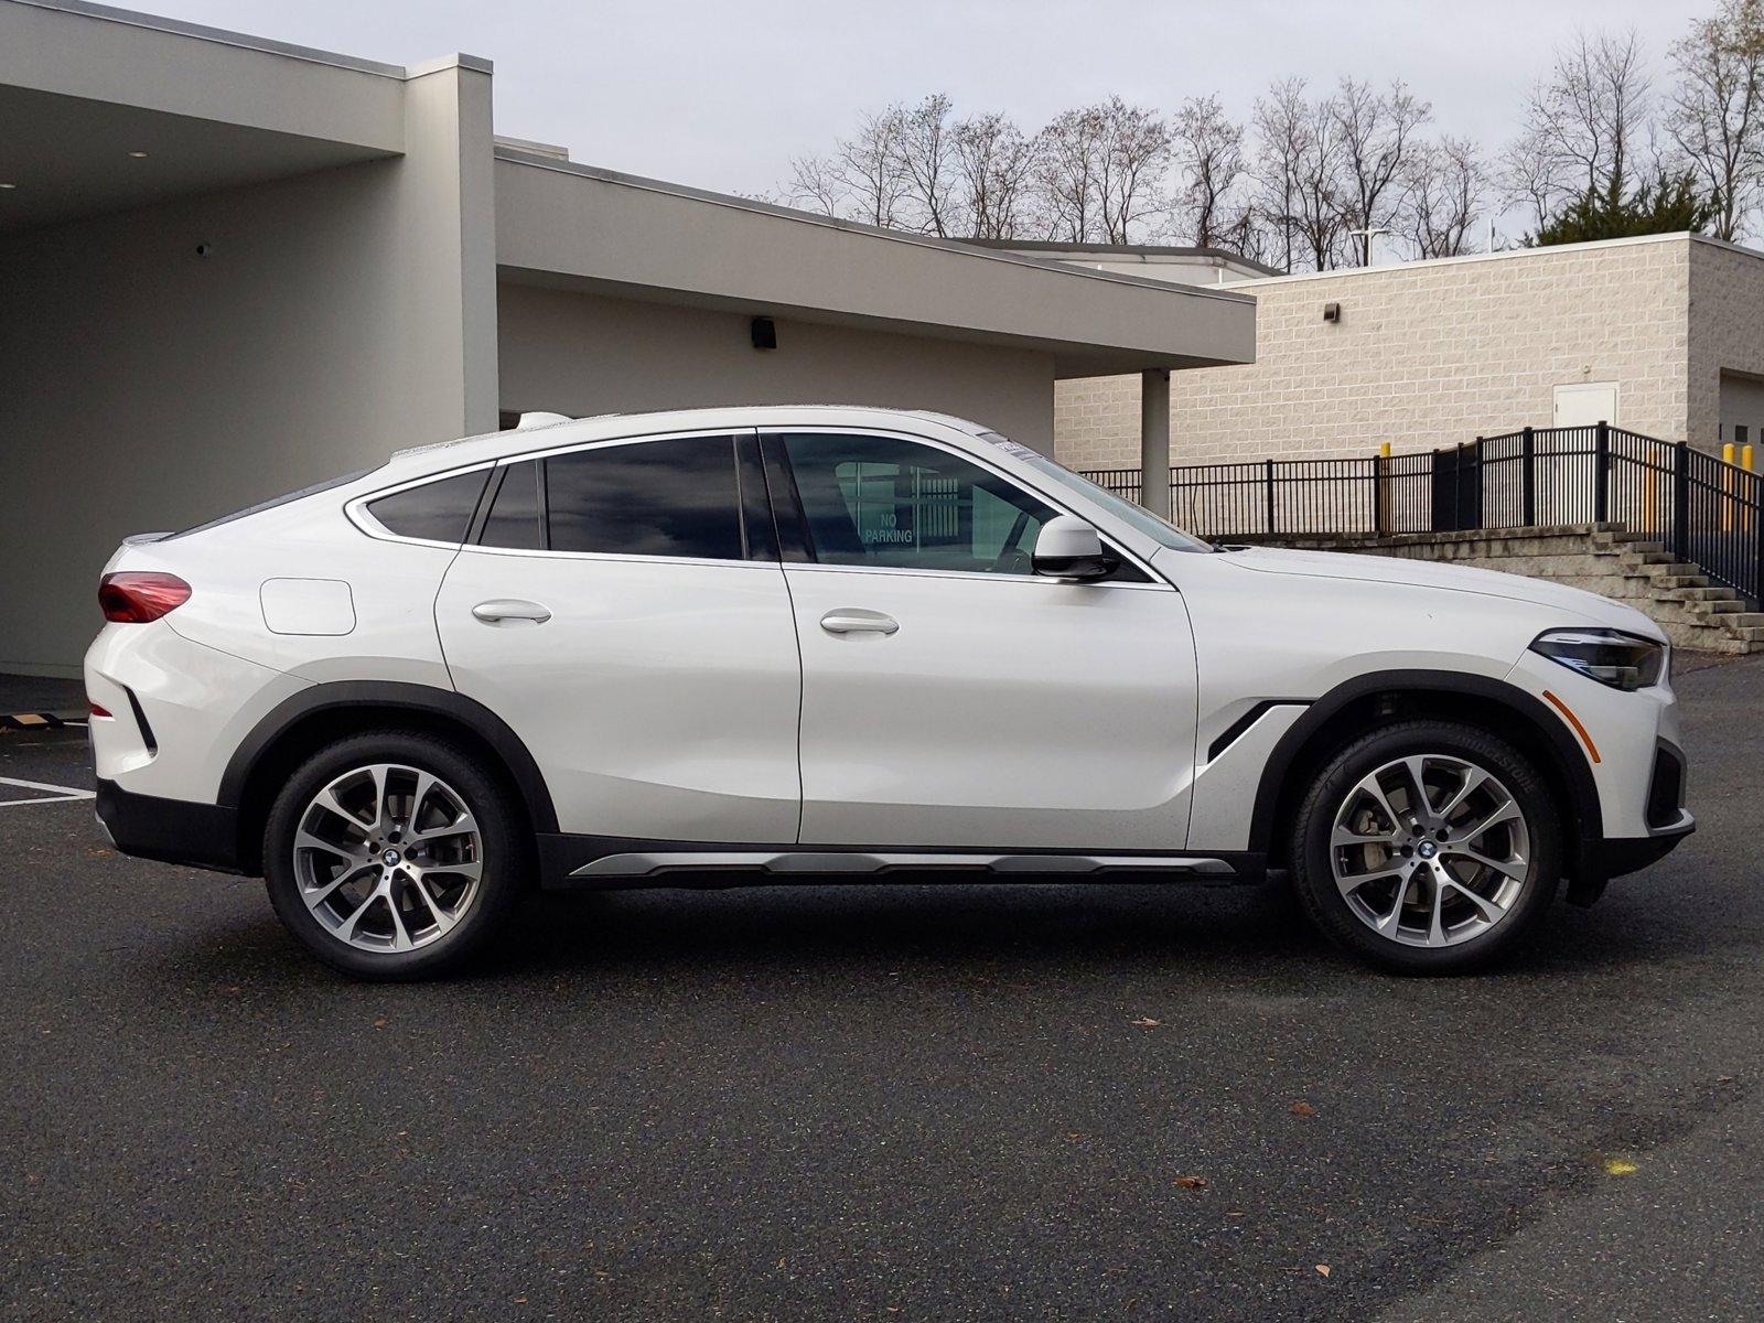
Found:
[{"label": "dark asphalt parking lot beneath and around the white car", "polygon": [[363,986],[26,792],[0,1316],[1759,1316],[1764,660],[1679,693],[1697,836],[1457,981],[1134,884],[554,896]]}]

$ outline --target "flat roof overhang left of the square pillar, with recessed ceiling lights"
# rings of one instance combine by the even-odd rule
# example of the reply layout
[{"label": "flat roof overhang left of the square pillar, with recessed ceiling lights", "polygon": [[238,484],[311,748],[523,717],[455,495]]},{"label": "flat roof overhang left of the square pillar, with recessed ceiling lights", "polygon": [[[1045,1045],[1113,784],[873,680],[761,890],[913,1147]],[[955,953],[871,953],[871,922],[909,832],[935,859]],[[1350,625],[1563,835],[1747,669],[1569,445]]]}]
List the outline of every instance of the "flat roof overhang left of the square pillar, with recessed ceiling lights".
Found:
[{"label": "flat roof overhang left of the square pillar, with recessed ceiling lights", "polygon": [[399,155],[413,72],[83,0],[0,0],[0,231]]}]

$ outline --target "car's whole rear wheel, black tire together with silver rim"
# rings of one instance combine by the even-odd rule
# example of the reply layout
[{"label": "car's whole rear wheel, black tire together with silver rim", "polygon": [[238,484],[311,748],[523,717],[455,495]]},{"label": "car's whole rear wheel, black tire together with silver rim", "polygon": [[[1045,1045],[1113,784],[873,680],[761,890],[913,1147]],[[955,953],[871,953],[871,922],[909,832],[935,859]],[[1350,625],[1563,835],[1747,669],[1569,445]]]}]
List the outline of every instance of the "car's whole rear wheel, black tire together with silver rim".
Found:
[{"label": "car's whole rear wheel, black tire together with silver rim", "polygon": [[464,965],[508,921],[531,856],[508,790],[457,744],[406,730],[314,753],[263,833],[265,886],[282,924],[360,979]]}]

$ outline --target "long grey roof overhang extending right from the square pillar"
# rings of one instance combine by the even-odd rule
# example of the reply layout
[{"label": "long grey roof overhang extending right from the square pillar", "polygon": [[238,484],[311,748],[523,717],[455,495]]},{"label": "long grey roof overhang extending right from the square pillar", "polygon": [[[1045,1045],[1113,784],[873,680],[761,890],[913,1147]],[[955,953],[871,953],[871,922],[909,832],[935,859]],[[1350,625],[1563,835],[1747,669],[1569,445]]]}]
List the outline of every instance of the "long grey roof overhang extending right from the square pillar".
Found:
[{"label": "long grey roof overhang extending right from the square pillar", "polygon": [[1251,296],[1087,272],[497,148],[501,279],[1048,353],[1062,377],[1256,356]]}]

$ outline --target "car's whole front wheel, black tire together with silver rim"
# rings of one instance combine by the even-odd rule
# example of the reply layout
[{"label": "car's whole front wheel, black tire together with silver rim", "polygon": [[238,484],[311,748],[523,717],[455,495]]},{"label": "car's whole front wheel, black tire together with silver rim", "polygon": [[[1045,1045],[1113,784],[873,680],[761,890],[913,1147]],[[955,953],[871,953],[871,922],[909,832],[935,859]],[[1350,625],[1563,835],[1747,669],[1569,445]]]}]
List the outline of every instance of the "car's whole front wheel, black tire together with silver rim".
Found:
[{"label": "car's whole front wheel, black tire together with silver rim", "polygon": [[[1416,767],[1424,810],[1411,813]],[[1469,974],[1521,946],[1554,900],[1561,820],[1536,766],[1506,741],[1404,721],[1318,771],[1293,822],[1293,887],[1323,935],[1371,965]]]}]

